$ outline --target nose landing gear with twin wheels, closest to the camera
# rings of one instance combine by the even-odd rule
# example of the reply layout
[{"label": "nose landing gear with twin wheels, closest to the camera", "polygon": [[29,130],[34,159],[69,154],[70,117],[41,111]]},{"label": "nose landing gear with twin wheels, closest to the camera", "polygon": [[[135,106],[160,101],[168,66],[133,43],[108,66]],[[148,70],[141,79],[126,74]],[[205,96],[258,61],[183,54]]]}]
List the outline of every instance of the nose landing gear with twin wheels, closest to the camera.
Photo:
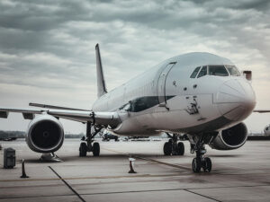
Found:
[{"label": "nose landing gear with twin wheels, closest to the camera", "polygon": [[204,157],[206,154],[205,144],[211,142],[213,136],[189,136],[191,142],[191,153],[196,153],[196,157],[193,158],[193,172],[200,172],[201,170],[205,172],[211,171],[211,159],[209,157]]}]

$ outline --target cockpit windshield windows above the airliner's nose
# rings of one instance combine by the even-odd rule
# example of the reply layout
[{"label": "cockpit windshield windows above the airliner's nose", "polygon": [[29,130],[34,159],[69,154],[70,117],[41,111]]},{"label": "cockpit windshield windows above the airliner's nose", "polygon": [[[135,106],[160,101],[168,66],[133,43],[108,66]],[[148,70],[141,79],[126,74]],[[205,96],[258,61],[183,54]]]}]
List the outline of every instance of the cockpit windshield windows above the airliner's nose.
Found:
[{"label": "cockpit windshield windows above the airliner's nose", "polygon": [[195,78],[197,76],[197,78],[200,78],[203,75],[239,76],[240,74],[236,66],[198,66],[190,77]]}]

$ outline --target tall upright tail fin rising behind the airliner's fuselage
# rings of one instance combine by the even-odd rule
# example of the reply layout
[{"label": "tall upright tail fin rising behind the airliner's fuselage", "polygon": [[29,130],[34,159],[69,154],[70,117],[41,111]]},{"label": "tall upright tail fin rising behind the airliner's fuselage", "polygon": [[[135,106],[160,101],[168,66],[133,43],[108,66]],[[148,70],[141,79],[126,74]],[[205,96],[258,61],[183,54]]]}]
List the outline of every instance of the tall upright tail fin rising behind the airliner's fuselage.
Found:
[{"label": "tall upright tail fin rising behind the airliner's fuselage", "polygon": [[96,75],[97,75],[97,96],[101,97],[107,93],[105,79],[103,75],[103,65],[100,57],[98,43],[95,45]]}]

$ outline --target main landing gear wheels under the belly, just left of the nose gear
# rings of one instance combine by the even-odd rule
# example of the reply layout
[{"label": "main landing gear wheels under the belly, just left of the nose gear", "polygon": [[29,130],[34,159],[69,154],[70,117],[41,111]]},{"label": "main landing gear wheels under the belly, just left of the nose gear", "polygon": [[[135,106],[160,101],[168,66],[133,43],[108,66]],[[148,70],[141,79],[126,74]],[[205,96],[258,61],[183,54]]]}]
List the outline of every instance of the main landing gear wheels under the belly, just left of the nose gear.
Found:
[{"label": "main landing gear wheels under the belly, just left of the nose gear", "polygon": [[182,142],[177,143],[177,136],[167,134],[170,137],[169,141],[163,146],[163,152],[165,155],[184,155],[184,144]]}]

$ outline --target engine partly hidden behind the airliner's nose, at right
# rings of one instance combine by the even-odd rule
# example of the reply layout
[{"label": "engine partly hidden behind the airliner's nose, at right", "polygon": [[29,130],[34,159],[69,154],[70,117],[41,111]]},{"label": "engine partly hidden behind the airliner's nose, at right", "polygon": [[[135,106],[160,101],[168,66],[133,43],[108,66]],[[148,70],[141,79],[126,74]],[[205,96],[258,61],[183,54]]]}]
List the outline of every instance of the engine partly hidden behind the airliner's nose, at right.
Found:
[{"label": "engine partly hidden behind the airliner's nose, at right", "polygon": [[219,135],[209,144],[212,149],[232,150],[244,145],[247,141],[247,127],[239,123],[234,127],[221,130]]}]

